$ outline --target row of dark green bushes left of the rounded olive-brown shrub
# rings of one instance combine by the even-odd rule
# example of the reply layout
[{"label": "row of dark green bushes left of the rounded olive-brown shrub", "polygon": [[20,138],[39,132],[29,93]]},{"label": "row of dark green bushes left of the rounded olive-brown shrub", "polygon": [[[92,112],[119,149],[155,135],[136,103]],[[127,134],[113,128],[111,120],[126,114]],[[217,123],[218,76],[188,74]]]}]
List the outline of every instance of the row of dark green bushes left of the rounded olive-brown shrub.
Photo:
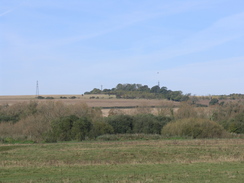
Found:
[{"label": "row of dark green bushes left of the rounded olive-brown shrub", "polygon": [[50,130],[45,133],[45,142],[82,141],[96,139],[104,134],[161,134],[162,127],[171,121],[169,117],[152,114],[116,115],[99,121],[88,117],[70,115],[51,122]]}]

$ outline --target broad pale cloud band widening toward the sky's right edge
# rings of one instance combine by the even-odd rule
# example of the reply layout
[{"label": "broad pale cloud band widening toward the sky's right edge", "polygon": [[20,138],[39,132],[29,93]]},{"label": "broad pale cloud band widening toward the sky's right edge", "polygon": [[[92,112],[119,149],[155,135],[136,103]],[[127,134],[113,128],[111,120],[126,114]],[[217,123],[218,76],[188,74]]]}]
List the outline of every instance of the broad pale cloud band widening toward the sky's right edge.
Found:
[{"label": "broad pale cloud band widening toward the sky's right edge", "polygon": [[178,56],[209,50],[244,36],[244,12],[218,20],[212,26],[185,38],[176,45],[142,56],[142,59],[164,61]]}]

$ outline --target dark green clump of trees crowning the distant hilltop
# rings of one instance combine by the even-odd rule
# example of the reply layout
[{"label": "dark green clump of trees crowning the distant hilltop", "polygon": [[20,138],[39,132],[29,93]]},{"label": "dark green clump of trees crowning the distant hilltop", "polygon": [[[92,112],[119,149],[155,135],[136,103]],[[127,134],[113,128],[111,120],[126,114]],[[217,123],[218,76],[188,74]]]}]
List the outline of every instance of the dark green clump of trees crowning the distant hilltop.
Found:
[{"label": "dark green clump of trees crowning the distant hilltop", "polygon": [[187,101],[190,97],[190,94],[184,95],[182,91],[172,91],[166,87],[160,88],[158,85],[149,88],[147,85],[141,84],[118,84],[115,88],[104,90],[94,88],[85,94],[108,94],[125,99],[168,99],[172,101]]}]

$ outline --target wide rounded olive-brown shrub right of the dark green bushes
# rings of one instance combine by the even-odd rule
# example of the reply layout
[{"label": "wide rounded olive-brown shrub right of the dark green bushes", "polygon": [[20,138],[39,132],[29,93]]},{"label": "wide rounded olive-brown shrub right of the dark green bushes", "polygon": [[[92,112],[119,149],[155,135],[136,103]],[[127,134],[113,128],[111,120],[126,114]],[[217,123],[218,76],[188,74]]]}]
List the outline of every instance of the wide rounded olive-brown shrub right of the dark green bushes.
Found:
[{"label": "wide rounded olive-brown shrub right of the dark green bushes", "polygon": [[208,119],[187,118],[168,123],[162,129],[164,136],[191,138],[220,138],[226,131],[221,125]]}]

